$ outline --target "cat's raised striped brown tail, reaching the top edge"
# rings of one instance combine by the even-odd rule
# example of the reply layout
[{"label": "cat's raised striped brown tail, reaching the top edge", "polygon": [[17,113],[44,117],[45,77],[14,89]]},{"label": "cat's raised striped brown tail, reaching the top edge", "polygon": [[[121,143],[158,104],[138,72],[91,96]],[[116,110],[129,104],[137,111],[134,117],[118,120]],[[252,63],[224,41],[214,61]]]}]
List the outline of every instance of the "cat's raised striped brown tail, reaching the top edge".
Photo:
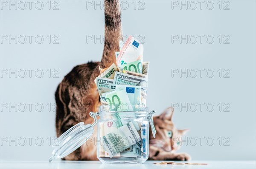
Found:
[{"label": "cat's raised striped brown tail, reaching the top edge", "polygon": [[115,52],[119,51],[119,39],[122,38],[121,8],[119,0],[105,0],[105,41],[101,67],[107,68],[116,63]]}]

